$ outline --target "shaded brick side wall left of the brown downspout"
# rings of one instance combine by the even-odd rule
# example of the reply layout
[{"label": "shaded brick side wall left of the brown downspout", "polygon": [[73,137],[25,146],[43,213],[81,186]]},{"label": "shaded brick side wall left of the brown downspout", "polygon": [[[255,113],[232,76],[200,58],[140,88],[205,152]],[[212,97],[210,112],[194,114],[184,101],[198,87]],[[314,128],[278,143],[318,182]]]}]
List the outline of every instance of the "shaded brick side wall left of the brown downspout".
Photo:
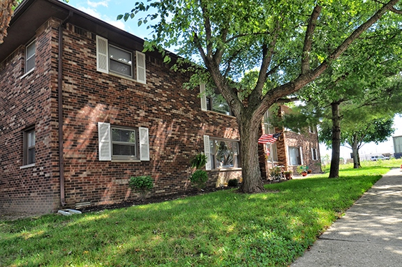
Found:
[{"label": "shaded brick side wall left of the brown downspout", "polygon": [[[0,64],[0,213],[49,213],[58,205],[57,121],[54,59],[55,24],[36,37],[35,70],[25,77],[21,46]],[[25,44],[22,44],[25,45]],[[1,49],[1,48],[0,48]],[[36,165],[22,168],[23,132],[35,126]]]}]

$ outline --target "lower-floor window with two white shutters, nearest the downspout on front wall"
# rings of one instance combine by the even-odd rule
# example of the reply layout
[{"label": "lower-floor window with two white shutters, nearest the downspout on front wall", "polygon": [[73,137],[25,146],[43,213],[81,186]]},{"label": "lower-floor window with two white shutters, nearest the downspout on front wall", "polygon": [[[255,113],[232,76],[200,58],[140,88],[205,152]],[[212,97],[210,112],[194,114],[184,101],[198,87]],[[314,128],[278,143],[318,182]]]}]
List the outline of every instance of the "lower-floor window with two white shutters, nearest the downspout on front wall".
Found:
[{"label": "lower-floor window with two white shutters, nearest the downspout on front wall", "polygon": [[98,123],[99,160],[149,160],[148,128]]}]

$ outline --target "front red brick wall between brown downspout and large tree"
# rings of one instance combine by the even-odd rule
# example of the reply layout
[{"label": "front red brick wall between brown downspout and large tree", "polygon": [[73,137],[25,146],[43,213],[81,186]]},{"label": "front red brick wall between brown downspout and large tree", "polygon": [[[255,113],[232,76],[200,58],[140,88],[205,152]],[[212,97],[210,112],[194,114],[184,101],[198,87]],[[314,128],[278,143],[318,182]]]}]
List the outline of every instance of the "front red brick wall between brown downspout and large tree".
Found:
[{"label": "front red brick wall between brown downspout and large tree", "polygon": [[[113,40],[109,40],[111,43]],[[202,112],[199,88],[147,55],[147,84],[96,71],[96,42],[73,25],[64,32],[64,155],[66,203],[110,204],[133,199],[131,176],[151,175],[151,194],[188,190],[189,161],[204,151],[203,135],[239,139],[233,117]],[[137,47],[128,43],[127,47]],[[100,162],[97,123],[149,128],[149,162]],[[219,171],[209,171],[215,184]],[[239,171],[237,171],[237,174]]]}]

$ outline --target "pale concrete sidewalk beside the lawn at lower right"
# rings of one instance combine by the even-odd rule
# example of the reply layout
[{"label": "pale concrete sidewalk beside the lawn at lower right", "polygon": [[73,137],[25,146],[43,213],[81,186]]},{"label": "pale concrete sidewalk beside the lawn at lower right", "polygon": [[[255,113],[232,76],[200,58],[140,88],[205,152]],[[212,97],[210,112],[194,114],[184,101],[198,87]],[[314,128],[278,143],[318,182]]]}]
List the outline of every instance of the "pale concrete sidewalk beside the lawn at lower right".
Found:
[{"label": "pale concrete sidewalk beside the lawn at lower right", "polygon": [[401,169],[385,174],[291,266],[401,267]]}]

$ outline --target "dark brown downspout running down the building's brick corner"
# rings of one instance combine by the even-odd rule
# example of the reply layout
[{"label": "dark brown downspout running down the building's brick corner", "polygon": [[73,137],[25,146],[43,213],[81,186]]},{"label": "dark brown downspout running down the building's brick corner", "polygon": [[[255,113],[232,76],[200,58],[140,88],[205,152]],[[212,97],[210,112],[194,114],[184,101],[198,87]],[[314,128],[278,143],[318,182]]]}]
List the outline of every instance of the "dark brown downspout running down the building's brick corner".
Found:
[{"label": "dark brown downspout running down the building's brick corner", "polygon": [[63,27],[73,15],[73,11],[68,13],[68,17],[61,22],[59,26],[59,62],[57,75],[57,90],[58,90],[58,109],[59,109],[59,172],[60,172],[60,203],[61,206],[66,206],[64,199],[64,148],[63,148]]}]

